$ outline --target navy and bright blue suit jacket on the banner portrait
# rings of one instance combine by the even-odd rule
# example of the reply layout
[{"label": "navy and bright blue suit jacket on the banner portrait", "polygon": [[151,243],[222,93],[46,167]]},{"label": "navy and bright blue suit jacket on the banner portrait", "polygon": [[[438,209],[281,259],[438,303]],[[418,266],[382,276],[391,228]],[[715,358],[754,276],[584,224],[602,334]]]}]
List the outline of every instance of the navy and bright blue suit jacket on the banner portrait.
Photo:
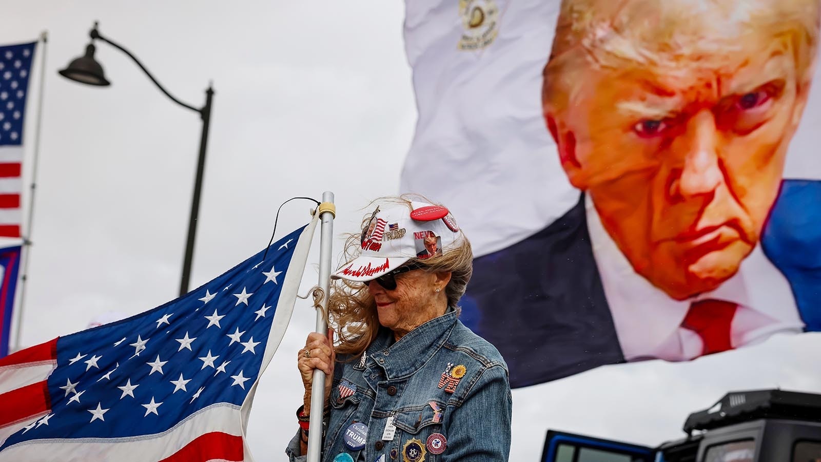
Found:
[{"label": "navy and bright blue suit jacket on the banner portrait", "polygon": [[[821,330],[821,182],[784,180],[761,240],[807,330]],[[622,363],[596,266],[585,196],[520,243],[474,261],[462,321],[502,353],[511,386]]]}]

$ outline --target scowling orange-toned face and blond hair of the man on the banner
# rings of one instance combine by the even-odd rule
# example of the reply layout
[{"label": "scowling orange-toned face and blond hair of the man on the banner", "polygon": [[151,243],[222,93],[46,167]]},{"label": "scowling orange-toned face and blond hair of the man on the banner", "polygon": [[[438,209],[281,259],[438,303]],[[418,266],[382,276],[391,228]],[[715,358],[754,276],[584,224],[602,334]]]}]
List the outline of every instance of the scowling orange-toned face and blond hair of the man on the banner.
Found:
[{"label": "scowling orange-toned face and blond hair of the man on the banner", "polygon": [[543,89],[562,167],[672,298],[715,289],[759,242],[818,17],[818,0],[562,3]]}]

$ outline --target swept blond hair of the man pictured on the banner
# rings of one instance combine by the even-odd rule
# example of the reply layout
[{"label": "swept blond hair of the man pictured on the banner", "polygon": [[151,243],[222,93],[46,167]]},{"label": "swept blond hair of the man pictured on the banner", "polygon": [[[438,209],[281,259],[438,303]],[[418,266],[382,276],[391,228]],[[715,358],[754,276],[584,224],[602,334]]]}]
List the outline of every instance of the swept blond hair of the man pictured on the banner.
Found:
[{"label": "swept blond hair of the man pictured on the banner", "polygon": [[566,109],[589,67],[688,72],[763,32],[789,40],[801,93],[812,80],[819,12],[821,0],[563,0],[544,67],[545,110]]}]

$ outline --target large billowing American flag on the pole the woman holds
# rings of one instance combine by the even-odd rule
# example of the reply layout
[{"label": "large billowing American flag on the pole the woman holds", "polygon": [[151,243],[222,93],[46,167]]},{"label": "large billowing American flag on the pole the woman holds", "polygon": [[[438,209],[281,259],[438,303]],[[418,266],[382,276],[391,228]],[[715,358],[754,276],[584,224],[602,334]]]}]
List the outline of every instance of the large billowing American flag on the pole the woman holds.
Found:
[{"label": "large billowing American flag on the pole the woman holds", "polygon": [[244,422],[315,223],[149,312],[0,359],[0,460],[252,460]]}]

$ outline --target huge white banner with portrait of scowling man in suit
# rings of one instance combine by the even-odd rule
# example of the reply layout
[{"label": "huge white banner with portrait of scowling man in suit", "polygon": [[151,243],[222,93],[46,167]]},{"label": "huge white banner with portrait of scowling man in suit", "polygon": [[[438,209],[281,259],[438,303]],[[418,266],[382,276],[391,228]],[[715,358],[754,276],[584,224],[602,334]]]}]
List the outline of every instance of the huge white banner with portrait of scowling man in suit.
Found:
[{"label": "huge white banner with portrait of scowling man in suit", "polygon": [[401,191],[474,244],[462,320],[512,386],[821,330],[819,10],[406,2]]}]

